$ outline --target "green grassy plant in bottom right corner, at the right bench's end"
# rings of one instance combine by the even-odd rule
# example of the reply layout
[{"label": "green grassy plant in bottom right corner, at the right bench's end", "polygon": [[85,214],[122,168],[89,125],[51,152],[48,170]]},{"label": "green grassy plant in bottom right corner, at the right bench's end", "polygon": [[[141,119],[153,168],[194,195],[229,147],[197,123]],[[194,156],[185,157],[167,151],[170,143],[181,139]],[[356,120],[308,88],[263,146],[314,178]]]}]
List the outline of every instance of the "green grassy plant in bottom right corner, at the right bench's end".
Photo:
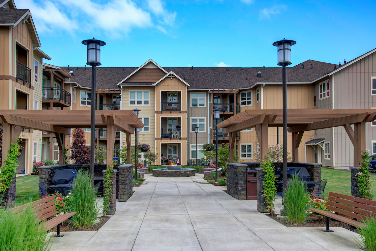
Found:
[{"label": "green grassy plant in bottom right corner, at the right bench's end", "polygon": [[364,229],[358,228],[360,240],[356,240],[359,245],[364,246],[364,250],[376,250],[376,218],[371,217],[363,221]]}]

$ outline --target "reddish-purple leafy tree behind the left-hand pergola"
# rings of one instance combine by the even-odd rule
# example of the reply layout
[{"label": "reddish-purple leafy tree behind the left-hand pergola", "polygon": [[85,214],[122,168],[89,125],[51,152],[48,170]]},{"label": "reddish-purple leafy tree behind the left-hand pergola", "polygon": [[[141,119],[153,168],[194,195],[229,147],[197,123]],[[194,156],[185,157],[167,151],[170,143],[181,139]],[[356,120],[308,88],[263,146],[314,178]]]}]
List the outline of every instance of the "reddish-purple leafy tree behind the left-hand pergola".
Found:
[{"label": "reddish-purple leafy tree behind the left-hand pergola", "polygon": [[75,164],[90,163],[90,146],[86,146],[85,132],[81,128],[73,129],[71,146],[71,160]]}]

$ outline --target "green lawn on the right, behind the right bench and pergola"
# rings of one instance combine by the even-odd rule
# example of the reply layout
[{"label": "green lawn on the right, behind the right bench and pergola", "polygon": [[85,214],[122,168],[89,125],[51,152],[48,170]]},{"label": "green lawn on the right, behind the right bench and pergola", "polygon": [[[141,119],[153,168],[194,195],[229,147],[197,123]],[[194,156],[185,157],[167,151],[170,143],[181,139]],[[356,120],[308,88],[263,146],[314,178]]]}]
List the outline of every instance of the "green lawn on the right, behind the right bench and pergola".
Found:
[{"label": "green lawn on the right, behind the right bench and pergola", "polygon": [[[327,179],[324,195],[327,198],[329,192],[342,193],[351,195],[351,179],[350,172],[335,170],[329,168],[321,168],[321,179]],[[370,175],[371,192],[373,198],[376,198],[376,175]]]}]

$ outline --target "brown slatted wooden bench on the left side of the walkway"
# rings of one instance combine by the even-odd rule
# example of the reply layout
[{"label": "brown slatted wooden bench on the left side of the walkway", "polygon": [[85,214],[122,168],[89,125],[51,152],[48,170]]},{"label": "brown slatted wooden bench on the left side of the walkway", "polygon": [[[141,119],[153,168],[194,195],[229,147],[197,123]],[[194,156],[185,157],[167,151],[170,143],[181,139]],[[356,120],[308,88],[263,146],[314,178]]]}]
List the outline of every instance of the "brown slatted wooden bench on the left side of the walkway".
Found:
[{"label": "brown slatted wooden bench on the left side of the walkway", "polygon": [[[39,199],[38,201],[33,201],[31,203],[12,208],[10,212],[18,213],[27,207],[34,208],[35,218],[39,218],[39,222],[41,222],[41,225],[43,224],[43,227],[46,231],[56,226],[58,227],[57,233],[53,237],[63,237],[64,234],[60,234],[60,226],[64,221],[66,221],[69,218],[72,218],[72,216],[76,214],[76,212],[64,213],[53,217],[56,214],[55,200],[53,196],[49,196],[43,199]],[[41,227],[41,225],[39,225],[39,228]]]}]

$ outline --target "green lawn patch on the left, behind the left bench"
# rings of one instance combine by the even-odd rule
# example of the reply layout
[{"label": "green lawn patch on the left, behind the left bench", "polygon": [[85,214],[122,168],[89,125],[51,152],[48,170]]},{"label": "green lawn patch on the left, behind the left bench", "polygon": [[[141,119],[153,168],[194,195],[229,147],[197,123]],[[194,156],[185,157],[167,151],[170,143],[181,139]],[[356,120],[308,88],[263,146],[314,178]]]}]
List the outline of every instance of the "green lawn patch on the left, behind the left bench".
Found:
[{"label": "green lawn patch on the left, behind the left bench", "polygon": [[16,207],[39,199],[39,176],[27,175],[18,177],[16,180]]}]

